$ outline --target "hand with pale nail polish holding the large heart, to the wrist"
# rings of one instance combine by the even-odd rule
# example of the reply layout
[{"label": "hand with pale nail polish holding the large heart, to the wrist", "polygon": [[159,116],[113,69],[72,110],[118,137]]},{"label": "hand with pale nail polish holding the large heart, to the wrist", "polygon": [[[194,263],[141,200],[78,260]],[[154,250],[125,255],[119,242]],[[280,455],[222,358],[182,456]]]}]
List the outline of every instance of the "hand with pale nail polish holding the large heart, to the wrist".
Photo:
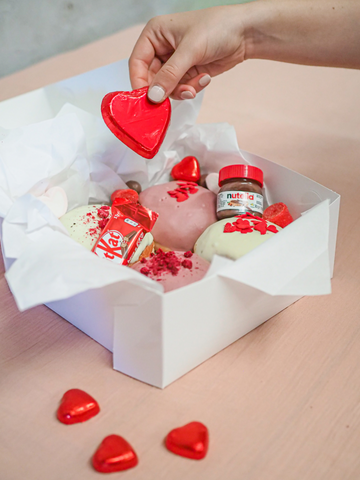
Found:
[{"label": "hand with pale nail polish holding the large heart, to the wrist", "polygon": [[155,103],[195,98],[211,77],[245,59],[244,30],[239,5],[153,18],[129,60],[132,87],[149,86]]}]

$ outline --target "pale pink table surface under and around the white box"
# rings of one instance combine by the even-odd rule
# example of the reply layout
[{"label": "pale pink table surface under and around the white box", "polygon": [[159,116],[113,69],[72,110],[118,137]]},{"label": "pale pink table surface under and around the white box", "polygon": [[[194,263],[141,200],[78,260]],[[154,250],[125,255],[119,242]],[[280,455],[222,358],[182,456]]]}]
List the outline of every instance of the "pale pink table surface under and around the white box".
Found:
[{"label": "pale pink table surface under and around the white box", "polygon": [[[137,26],[0,79],[0,100],[127,57]],[[110,352],[41,306],[19,313],[0,277],[0,478],[96,479],[102,438],[124,436],[139,465],[124,479],[360,478],[360,71],[249,61],[214,78],[200,122],[226,121],[241,148],[342,195],[333,293],[298,301],[161,391],[112,370]],[[62,394],[101,404],[55,418]],[[202,461],[163,446],[192,420]]]}]

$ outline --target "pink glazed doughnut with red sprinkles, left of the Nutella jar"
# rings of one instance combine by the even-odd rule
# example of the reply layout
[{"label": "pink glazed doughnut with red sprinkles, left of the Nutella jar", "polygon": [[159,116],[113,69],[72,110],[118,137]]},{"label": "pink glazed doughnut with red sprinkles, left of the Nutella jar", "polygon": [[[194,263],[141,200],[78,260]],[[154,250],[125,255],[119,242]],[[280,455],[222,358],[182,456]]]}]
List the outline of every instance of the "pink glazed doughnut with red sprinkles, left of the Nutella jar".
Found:
[{"label": "pink glazed doughnut with red sprinkles, left of the Nutella jar", "polygon": [[193,250],[199,236],[217,221],[216,195],[194,182],[154,185],[140,193],[139,201],[159,214],[151,233],[170,250]]}]

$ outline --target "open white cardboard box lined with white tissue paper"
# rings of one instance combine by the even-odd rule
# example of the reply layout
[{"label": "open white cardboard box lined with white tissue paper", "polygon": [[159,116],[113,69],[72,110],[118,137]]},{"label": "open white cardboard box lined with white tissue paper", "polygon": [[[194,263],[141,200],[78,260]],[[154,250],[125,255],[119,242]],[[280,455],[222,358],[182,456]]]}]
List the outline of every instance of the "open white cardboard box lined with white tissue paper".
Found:
[{"label": "open white cardboard box lined with white tissue paper", "polygon": [[[160,152],[144,160],[100,118],[103,96],[116,90],[130,90],[126,61],[0,104],[6,278],[20,310],[45,303],[112,351],[116,370],[164,388],[300,297],[330,293],[340,197],[240,150],[227,124],[196,125],[201,98],[173,103]],[[203,172],[261,168],[267,204],[286,203],[296,221],[237,261],[215,256],[203,280],[164,294],[73,242],[37,199],[60,185],[70,209],[108,202],[130,179],[143,188],[167,181],[186,155]]]}]

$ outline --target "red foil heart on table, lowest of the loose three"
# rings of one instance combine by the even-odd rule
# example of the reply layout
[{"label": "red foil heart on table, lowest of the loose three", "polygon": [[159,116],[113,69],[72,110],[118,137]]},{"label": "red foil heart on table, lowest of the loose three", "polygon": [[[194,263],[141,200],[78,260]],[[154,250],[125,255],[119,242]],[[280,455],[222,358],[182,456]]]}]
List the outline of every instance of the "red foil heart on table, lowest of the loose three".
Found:
[{"label": "red foil heart on table, lowest of the loose three", "polygon": [[136,467],[137,455],[132,446],[119,435],[109,435],[93,455],[92,464],[101,473],[120,472]]}]

